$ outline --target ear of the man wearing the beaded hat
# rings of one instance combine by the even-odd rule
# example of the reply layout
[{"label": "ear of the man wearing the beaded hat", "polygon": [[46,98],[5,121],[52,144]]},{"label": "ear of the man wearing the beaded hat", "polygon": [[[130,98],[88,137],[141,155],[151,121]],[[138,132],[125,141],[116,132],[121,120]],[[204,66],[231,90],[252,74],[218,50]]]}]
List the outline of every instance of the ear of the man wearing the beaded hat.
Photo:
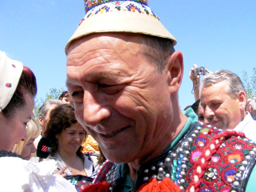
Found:
[{"label": "ear of the man wearing the beaded hat", "polygon": [[183,56],[180,51],[175,51],[166,64],[168,72],[169,93],[177,93],[183,77]]}]

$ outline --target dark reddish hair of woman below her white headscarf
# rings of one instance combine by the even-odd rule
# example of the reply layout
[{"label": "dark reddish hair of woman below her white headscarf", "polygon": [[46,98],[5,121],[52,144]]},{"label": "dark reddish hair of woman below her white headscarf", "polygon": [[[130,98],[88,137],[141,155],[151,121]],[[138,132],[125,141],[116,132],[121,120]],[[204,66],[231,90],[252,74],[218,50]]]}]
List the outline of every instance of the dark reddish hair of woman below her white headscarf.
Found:
[{"label": "dark reddish hair of woman below her white headscarf", "polygon": [[37,93],[36,78],[34,73],[27,67],[23,67],[22,75],[19,78],[17,88],[7,104],[6,108],[2,111],[6,118],[10,118],[15,114],[15,111],[26,104],[24,94],[29,93],[35,97]]}]

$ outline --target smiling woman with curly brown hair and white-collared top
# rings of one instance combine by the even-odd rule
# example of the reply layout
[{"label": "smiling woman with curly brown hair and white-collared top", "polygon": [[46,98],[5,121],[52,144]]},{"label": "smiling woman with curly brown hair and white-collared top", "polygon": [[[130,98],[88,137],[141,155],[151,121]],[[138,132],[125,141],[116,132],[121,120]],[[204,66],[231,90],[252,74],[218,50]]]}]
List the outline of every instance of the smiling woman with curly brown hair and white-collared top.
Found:
[{"label": "smiling woman with curly brown hair and white-collared top", "polygon": [[46,160],[57,161],[56,169],[67,166],[67,175],[90,177],[97,169],[97,157],[83,154],[87,132],[77,122],[73,105],[61,104],[51,111],[45,137],[51,140],[51,154]]}]

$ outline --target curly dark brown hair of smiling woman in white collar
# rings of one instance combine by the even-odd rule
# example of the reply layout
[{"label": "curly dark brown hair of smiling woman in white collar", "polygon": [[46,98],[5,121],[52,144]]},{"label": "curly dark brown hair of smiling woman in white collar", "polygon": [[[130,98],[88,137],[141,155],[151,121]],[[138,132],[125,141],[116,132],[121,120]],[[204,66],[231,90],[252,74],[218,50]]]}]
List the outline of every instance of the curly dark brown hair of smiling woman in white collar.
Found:
[{"label": "curly dark brown hair of smiling woman in white collar", "polygon": [[[54,155],[58,151],[58,142],[56,136],[75,123],[77,123],[77,120],[75,118],[75,110],[72,104],[61,104],[51,111],[45,137],[49,138],[52,142],[52,155]],[[81,155],[82,150],[83,147],[80,146],[76,154]]]}]

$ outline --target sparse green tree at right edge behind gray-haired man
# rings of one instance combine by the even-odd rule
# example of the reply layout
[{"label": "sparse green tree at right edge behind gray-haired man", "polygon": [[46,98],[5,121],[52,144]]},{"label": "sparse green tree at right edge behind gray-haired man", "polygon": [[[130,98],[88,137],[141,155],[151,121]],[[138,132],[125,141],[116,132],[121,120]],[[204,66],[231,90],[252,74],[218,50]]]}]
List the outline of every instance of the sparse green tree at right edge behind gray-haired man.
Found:
[{"label": "sparse green tree at right edge behind gray-haired man", "polygon": [[256,97],[256,67],[252,68],[251,77],[248,77],[248,73],[243,71],[243,83],[247,92],[247,98]]}]

